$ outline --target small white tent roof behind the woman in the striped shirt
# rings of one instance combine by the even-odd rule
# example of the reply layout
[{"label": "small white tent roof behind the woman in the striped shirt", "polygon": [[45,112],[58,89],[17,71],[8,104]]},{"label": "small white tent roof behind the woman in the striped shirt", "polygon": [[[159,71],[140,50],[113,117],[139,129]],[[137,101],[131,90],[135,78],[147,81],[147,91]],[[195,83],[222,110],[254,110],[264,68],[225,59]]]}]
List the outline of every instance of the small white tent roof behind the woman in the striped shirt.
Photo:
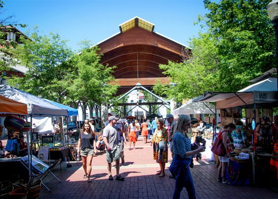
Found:
[{"label": "small white tent roof behind the woman in the striped shirt", "polygon": [[206,103],[206,105],[203,102],[193,102],[193,100],[189,100],[181,107],[175,109],[174,114],[214,114],[213,111],[215,111],[215,106],[210,103]]}]

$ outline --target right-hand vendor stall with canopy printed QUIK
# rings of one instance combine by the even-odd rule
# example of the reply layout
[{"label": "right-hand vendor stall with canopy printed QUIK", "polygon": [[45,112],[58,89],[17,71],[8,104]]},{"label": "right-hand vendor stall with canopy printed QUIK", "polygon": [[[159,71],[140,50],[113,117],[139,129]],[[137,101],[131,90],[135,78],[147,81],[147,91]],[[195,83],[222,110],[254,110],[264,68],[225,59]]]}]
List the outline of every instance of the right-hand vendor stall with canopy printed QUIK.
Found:
[{"label": "right-hand vendor stall with canopy printed QUIK", "polygon": [[[271,111],[271,107],[278,107],[278,92],[277,92],[277,79],[276,78],[267,78],[265,80],[262,80],[260,82],[257,82],[245,89],[242,89],[238,92],[230,92],[230,93],[212,93],[212,92],[206,92],[202,98],[198,98],[193,101],[199,101],[199,102],[215,102],[216,109],[222,109],[221,112],[221,122],[222,124],[227,124],[229,122],[233,122],[233,108],[246,108],[246,110],[251,110],[254,116],[255,123],[258,121],[258,108],[264,108],[265,113],[262,115],[264,116],[264,125],[265,125],[265,119],[266,116],[270,116],[270,119],[272,119],[272,114],[267,114]],[[227,109],[231,109],[232,111],[227,111]],[[264,110],[263,109],[263,110]],[[247,111],[246,111],[247,112]],[[228,119],[222,118],[227,117],[227,115],[231,113],[232,120],[229,121]],[[262,113],[261,113],[262,114]],[[261,116],[261,115],[260,115]],[[263,123],[263,121],[260,121]],[[261,126],[263,124],[261,123]],[[269,123],[271,125],[271,123]],[[270,126],[269,125],[269,126]],[[260,124],[259,124],[260,127]],[[257,130],[258,131],[258,130]],[[259,183],[259,176],[263,176],[263,170],[265,167],[262,166],[261,160],[262,157],[259,155],[260,153],[265,153],[264,150],[259,150],[259,147],[257,145],[259,138],[257,131],[253,131],[251,134],[252,136],[252,144],[249,148],[251,151],[248,151],[249,154],[249,161],[238,161],[237,159],[231,158],[230,162],[233,164],[231,168],[238,168],[237,171],[231,171],[232,173],[238,173],[242,174],[247,172],[248,169],[251,168],[252,176],[248,175],[249,179],[243,179],[239,184],[246,184],[247,180],[250,180],[251,182],[255,183],[255,185],[258,185]],[[265,134],[270,134],[269,131],[266,129],[263,130]],[[262,134],[264,134],[262,132]],[[258,140],[257,140],[258,138]],[[264,141],[266,139],[262,139]],[[261,144],[265,145],[266,142],[262,142]],[[273,147],[273,146],[272,146]],[[246,150],[246,149],[244,149]],[[237,151],[235,151],[237,153]],[[239,151],[238,151],[239,152]],[[240,152],[239,152],[240,154]],[[237,155],[239,155],[237,154]],[[241,159],[241,158],[239,158]],[[244,162],[244,163],[243,163]],[[248,165],[248,166],[247,166]],[[248,167],[248,168],[246,168]],[[267,167],[270,167],[270,164],[268,164]],[[247,169],[247,170],[246,170]],[[244,172],[243,172],[244,171]],[[248,170],[249,171],[249,170]],[[250,172],[247,172],[250,174]],[[270,175],[269,173],[267,175]],[[246,176],[245,176],[246,177]],[[230,178],[232,180],[233,178]],[[232,181],[234,182],[234,181]]]}]

